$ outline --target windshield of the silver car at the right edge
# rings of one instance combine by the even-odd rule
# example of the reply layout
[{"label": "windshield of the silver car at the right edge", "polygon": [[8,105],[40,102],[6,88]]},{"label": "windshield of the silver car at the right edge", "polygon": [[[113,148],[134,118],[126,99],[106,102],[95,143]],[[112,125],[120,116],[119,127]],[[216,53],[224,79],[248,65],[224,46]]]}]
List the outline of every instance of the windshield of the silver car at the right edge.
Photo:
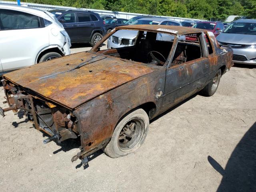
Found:
[{"label": "windshield of the silver car at the right edge", "polygon": [[230,24],[223,32],[256,35],[256,23],[234,22]]}]

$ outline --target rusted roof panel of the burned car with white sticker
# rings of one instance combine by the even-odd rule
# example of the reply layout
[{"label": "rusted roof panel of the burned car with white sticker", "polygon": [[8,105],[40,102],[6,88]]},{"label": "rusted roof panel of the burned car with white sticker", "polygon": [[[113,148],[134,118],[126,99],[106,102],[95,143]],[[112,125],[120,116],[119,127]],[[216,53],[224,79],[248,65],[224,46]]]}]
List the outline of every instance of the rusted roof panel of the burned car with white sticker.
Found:
[{"label": "rusted roof panel of the burned car with white sticker", "polygon": [[126,25],[116,27],[116,30],[119,29],[130,29],[130,30],[145,30],[145,31],[154,31],[154,32],[166,32],[170,34],[185,35],[188,33],[200,33],[207,32],[203,29],[182,27],[182,26],[169,26],[169,25]]}]

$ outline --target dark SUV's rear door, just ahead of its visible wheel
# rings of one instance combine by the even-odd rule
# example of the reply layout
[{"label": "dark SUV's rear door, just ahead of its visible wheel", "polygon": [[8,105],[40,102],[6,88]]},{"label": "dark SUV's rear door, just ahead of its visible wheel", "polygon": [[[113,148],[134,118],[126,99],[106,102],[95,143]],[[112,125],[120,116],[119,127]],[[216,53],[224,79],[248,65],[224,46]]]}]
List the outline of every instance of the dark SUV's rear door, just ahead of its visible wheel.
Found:
[{"label": "dark SUV's rear door, just ahead of its visible wheel", "polygon": [[89,42],[92,31],[95,28],[94,22],[90,18],[90,14],[78,12],[76,13],[78,20],[78,38],[80,41]]}]

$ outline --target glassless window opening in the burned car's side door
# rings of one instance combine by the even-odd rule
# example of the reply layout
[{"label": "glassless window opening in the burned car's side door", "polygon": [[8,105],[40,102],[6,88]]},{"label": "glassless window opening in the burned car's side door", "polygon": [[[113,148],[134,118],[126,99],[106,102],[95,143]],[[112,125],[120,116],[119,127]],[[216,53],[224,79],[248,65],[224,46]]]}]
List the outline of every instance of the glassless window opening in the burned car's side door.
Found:
[{"label": "glassless window opening in the burned car's side door", "polygon": [[178,40],[174,57],[172,59],[172,65],[182,64],[202,57],[202,47],[199,41],[200,33],[189,34],[186,36],[186,39],[191,36],[196,38],[196,41],[191,42],[190,40]]}]

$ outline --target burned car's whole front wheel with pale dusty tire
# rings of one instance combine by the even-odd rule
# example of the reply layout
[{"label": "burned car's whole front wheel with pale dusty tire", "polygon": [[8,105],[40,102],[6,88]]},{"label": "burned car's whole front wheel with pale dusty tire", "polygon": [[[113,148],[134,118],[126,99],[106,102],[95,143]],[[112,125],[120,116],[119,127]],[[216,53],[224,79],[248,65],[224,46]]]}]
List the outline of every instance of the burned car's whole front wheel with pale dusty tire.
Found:
[{"label": "burned car's whole front wheel with pale dusty tire", "polygon": [[104,148],[105,154],[117,158],[136,151],[143,144],[148,127],[148,115],[143,109],[129,112],[116,126],[110,142]]}]

